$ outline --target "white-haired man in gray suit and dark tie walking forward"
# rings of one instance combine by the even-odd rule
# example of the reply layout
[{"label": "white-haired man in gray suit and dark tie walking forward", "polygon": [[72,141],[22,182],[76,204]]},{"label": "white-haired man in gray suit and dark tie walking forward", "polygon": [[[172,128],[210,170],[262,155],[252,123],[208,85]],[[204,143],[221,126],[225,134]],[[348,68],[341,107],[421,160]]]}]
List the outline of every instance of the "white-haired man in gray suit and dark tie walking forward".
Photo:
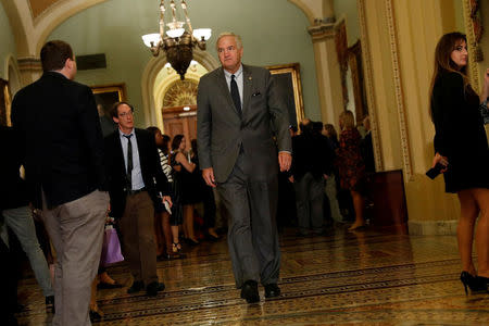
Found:
[{"label": "white-haired man in gray suit and dark tie walking forward", "polygon": [[216,47],[222,67],[200,79],[197,96],[199,162],[228,211],[236,286],[251,303],[259,280],[265,298],[280,294],[277,175],[292,160],[289,121],[269,72],[241,64],[240,37],[224,33]]}]

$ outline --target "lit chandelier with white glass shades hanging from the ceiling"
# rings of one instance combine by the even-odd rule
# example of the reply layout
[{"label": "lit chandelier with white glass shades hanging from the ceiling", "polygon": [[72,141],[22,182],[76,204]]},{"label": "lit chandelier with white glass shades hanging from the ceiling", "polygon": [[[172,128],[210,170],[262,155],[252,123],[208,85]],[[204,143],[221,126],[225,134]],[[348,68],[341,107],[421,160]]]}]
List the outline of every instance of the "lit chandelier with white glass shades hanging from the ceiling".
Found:
[{"label": "lit chandelier with white glass shades hanging from the ceiling", "polygon": [[[180,0],[180,5],[185,14],[187,28],[184,28],[185,22],[177,20],[177,5],[174,0],[170,1],[172,21],[165,24],[166,8],[164,2],[164,0],[160,2],[160,33],[143,35],[142,41],[150,48],[154,57],[158,57],[160,49],[163,50],[172,67],[184,80],[185,73],[193,58],[193,48],[197,46],[199,49],[205,50],[205,41],[211,38],[212,30],[211,28],[192,29],[185,0]],[[167,27],[166,33],[165,26]]]}]

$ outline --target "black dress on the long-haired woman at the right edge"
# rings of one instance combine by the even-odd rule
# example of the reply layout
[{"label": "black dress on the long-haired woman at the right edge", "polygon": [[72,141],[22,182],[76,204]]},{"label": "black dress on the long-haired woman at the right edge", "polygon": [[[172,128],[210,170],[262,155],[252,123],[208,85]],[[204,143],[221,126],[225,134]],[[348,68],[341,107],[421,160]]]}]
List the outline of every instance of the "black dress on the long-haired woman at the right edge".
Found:
[{"label": "black dress on the long-haired woman at the right edge", "polygon": [[441,73],[431,96],[435,151],[448,158],[447,192],[489,188],[489,149],[479,97],[459,73]]}]

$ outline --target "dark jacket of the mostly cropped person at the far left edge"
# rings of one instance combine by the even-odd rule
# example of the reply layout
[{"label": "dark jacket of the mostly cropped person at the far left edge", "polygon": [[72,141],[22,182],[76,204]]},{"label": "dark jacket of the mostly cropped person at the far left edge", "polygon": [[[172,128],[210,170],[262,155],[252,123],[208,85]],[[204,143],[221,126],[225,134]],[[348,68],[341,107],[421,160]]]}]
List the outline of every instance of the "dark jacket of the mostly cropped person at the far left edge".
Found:
[{"label": "dark jacket of the mostly cropped person at the far left edge", "polygon": [[0,211],[29,203],[26,184],[18,172],[23,158],[18,140],[13,128],[0,126],[0,152],[3,153],[0,160]]}]

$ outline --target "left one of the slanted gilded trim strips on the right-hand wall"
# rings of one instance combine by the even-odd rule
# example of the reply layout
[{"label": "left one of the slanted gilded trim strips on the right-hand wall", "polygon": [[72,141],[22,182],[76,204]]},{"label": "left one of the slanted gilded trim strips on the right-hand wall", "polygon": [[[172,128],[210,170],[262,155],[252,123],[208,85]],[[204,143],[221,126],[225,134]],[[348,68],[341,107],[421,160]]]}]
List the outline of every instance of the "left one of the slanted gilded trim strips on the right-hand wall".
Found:
[{"label": "left one of the slanted gilded trim strips on the right-hand wall", "polygon": [[384,170],[383,152],[380,148],[380,133],[377,128],[377,103],[375,102],[375,88],[374,88],[374,75],[372,72],[371,48],[368,45],[368,34],[365,17],[365,1],[358,0],[356,7],[359,9],[359,22],[360,22],[360,39],[362,43],[362,61],[364,67],[365,90],[368,105],[368,114],[371,118],[372,127],[372,140],[374,146],[375,166],[377,171]]}]

